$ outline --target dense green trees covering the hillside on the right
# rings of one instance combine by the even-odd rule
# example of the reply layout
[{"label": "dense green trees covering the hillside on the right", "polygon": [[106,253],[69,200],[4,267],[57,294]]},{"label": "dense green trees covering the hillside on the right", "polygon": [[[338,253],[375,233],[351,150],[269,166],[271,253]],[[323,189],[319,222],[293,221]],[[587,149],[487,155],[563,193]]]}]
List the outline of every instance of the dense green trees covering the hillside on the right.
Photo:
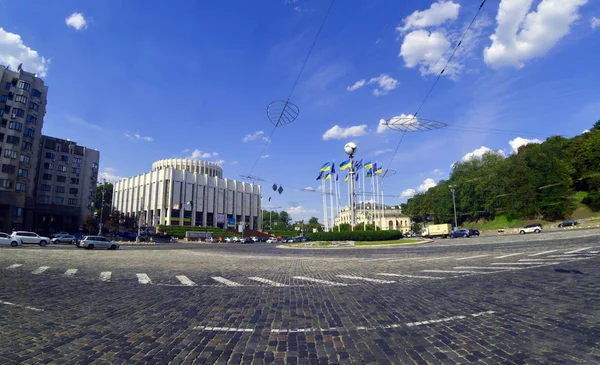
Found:
[{"label": "dense green trees covering the hillside on the right", "polygon": [[454,164],[450,178],[403,205],[414,221],[454,223],[455,189],[458,223],[493,219],[558,220],[576,208],[575,193],[587,192],[583,203],[600,210],[600,121],[573,138],[552,136],[528,144],[505,158],[488,152]]}]

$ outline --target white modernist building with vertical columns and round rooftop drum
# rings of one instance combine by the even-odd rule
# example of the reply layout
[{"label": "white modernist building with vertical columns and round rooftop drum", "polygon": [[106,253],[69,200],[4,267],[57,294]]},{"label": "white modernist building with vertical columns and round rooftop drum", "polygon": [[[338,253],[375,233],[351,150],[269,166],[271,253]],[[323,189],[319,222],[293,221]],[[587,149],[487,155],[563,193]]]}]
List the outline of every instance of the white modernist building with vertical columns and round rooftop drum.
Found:
[{"label": "white modernist building with vertical columns and round rooftop drum", "polygon": [[181,158],[156,161],[152,171],[113,187],[113,208],[148,227],[260,229],[260,198],[260,185],[224,179],[215,163]]}]

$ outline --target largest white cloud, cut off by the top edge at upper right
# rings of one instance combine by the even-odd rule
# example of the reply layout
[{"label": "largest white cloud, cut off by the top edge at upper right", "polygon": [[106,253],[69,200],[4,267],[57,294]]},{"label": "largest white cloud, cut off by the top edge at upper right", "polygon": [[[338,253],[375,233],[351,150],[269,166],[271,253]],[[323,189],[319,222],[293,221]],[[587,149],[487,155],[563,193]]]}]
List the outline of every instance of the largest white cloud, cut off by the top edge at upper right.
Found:
[{"label": "largest white cloud, cut off by the top edge at upper right", "polygon": [[542,0],[529,12],[533,0],[501,0],[492,44],[483,51],[485,63],[493,68],[520,68],[525,61],[543,56],[569,33],[587,1]]}]

